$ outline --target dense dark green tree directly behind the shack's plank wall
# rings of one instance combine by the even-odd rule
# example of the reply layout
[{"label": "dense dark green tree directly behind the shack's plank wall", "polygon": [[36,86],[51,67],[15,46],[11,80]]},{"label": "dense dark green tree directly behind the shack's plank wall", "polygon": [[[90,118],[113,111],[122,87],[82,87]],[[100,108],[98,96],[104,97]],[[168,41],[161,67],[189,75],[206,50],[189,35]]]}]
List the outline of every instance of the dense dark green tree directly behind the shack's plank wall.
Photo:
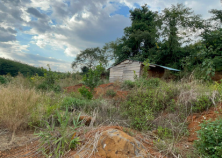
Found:
[{"label": "dense dark green tree directly behind the shack's plank wall", "polygon": [[158,14],[147,5],[130,10],[132,25],[124,29],[124,36],[110,43],[114,50],[115,62],[127,58],[145,60],[155,53],[158,40]]}]

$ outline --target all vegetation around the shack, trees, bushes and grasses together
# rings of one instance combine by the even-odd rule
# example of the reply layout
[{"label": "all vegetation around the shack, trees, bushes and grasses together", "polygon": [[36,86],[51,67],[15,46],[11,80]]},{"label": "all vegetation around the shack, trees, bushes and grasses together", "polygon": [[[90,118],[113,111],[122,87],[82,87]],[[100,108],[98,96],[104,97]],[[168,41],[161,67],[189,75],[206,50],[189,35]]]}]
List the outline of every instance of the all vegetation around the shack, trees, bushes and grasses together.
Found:
[{"label": "all vegetation around the shack, trees, bushes and grasses together", "polygon": [[[221,23],[221,12],[211,13],[208,20]],[[207,24],[181,4],[165,8],[162,14],[144,5],[131,10],[130,19],[132,25],[124,29],[122,38],[77,56],[72,67],[81,68],[82,73],[56,73],[50,67],[38,69],[0,58],[0,126],[13,132],[11,142],[17,130],[34,128],[41,154],[62,157],[81,145],[77,133],[118,124],[133,131],[132,136],[136,137],[132,133],[138,130],[144,138],[149,137],[165,156],[221,157],[221,119],[204,122],[199,141],[185,152],[178,144],[189,135],[189,116],[221,103],[222,83],[211,77],[222,70],[222,29]],[[192,41],[191,34],[200,29],[204,30],[197,34],[200,41]],[[109,99],[93,97],[109,61],[127,58],[142,61],[145,72],[150,63],[183,71],[170,81],[143,73],[135,76],[135,81],[118,83],[116,87],[128,91],[127,96],[118,98],[119,92],[106,89],[104,96]],[[67,93],[65,87],[78,83],[84,86]],[[90,116],[90,127],[79,120],[81,114]]]}]

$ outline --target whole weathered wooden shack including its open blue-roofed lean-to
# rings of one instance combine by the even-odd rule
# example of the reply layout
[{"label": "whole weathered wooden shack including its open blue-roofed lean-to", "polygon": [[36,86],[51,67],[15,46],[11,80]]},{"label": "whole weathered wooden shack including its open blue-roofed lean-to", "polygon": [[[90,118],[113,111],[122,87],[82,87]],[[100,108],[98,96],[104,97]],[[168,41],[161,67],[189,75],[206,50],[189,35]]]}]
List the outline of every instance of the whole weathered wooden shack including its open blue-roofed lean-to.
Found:
[{"label": "whole weathered wooden shack including its open blue-roofed lean-to", "polygon": [[[149,65],[148,74],[149,77],[158,77],[161,78],[165,70],[171,70],[171,71],[180,71],[177,69],[156,65],[156,64],[150,64]],[[124,60],[113,67],[109,68],[110,75],[109,75],[109,81],[115,82],[117,80],[124,81],[124,80],[131,80],[134,81],[134,75],[137,75],[140,77],[143,73],[144,65],[140,61],[134,61],[134,60]]]}]

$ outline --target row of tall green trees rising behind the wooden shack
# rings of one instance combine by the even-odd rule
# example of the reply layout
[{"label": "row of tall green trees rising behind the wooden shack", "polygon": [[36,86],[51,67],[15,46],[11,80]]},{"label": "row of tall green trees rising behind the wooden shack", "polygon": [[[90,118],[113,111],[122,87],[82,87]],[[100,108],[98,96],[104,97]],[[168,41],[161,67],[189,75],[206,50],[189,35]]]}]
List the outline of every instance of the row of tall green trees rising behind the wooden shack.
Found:
[{"label": "row of tall green trees rising behind the wooden shack", "polygon": [[213,75],[222,71],[222,11],[209,12],[212,17],[203,19],[183,4],[172,5],[161,13],[151,11],[147,5],[130,10],[132,23],[121,38],[102,48],[81,51],[72,67],[149,59],[185,72],[195,71],[199,76]]}]

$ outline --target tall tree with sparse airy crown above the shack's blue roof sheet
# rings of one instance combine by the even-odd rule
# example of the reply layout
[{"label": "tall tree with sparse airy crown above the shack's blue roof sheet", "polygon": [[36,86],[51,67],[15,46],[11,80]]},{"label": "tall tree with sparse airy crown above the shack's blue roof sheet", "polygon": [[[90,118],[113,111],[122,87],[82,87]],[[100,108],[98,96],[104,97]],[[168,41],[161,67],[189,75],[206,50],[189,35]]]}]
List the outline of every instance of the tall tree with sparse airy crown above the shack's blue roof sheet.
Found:
[{"label": "tall tree with sparse airy crown above the shack's blue roof sheet", "polygon": [[191,8],[183,4],[164,9],[160,17],[163,22],[161,26],[163,41],[156,61],[159,64],[174,65],[179,68],[178,61],[188,55],[183,46],[192,41],[191,34],[204,27],[203,20],[200,15],[195,15]]}]

